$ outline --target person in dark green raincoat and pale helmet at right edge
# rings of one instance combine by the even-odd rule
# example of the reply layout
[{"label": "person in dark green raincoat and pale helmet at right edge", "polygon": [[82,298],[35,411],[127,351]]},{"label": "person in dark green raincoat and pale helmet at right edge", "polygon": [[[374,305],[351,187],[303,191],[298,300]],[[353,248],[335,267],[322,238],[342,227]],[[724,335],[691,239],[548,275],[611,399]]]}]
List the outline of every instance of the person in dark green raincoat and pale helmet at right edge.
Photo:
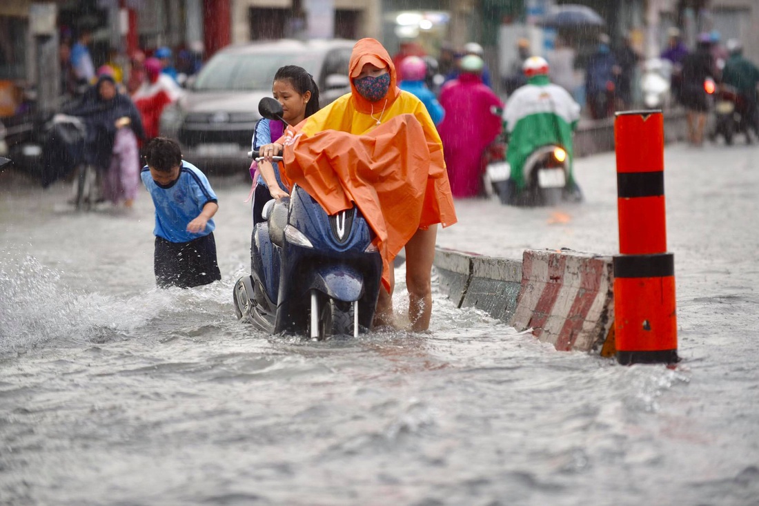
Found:
[{"label": "person in dark green raincoat and pale helmet at right edge", "polygon": [[737,39],[726,43],[729,58],[722,72],[723,84],[734,87],[742,103],[739,112],[745,115],[746,140],[751,142],[748,129],[754,130],[759,137],[759,109],[757,109],[757,83],[759,83],[759,68],[743,57],[743,45]]}]

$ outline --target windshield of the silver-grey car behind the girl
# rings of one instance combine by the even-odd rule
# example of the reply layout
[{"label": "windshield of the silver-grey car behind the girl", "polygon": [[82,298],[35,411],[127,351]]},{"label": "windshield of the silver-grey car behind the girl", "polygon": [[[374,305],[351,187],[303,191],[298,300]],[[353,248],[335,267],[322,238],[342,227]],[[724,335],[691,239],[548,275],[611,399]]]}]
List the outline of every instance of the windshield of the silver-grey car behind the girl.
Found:
[{"label": "windshield of the silver-grey car behind the girl", "polygon": [[282,65],[298,65],[316,75],[320,55],[310,52],[219,54],[205,65],[193,89],[217,90],[270,90],[274,74]]}]

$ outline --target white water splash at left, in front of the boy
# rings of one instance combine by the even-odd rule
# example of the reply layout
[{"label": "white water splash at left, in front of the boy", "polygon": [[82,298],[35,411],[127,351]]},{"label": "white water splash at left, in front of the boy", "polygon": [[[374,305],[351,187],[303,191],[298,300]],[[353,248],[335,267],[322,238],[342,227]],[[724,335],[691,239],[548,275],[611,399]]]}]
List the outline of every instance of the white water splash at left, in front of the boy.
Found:
[{"label": "white water splash at left, in front of the boy", "polygon": [[208,312],[221,311],[227,290],[203,288],[151,287],[131,297],[77,292],[65,285],[60,271],[8,251],[0,256],[0,355],[46,343],[123,340],[144,334],[140,329],[167,315],[172,324],[192,321],[191,315],[207,319]]}]

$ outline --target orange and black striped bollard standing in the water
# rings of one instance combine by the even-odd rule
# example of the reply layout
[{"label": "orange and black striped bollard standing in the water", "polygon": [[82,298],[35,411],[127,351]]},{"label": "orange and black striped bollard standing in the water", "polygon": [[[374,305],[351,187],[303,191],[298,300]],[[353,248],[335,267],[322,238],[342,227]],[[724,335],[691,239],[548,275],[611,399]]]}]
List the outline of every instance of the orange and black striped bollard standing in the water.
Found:
[{"label": "orange and black striped bollard standing in the water", "polygon": [[675,363],[675,259],[666,251],[662,112],[616,113],[619,253],[614,265],[617,361]]}]

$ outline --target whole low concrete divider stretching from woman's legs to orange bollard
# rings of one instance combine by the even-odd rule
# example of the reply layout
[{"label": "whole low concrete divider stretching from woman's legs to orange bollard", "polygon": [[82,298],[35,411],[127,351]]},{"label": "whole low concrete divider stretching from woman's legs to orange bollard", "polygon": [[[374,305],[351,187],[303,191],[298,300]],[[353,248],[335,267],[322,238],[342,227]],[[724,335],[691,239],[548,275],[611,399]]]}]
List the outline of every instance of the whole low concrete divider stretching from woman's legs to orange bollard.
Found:
[{"label": "whole low concrete divider stretching from woman's legs to orange bollard", "polygon": [[438,248],[440,291],[559,350],[601,351],[613,327],[612,258],[525,250],[521,261]]}]

